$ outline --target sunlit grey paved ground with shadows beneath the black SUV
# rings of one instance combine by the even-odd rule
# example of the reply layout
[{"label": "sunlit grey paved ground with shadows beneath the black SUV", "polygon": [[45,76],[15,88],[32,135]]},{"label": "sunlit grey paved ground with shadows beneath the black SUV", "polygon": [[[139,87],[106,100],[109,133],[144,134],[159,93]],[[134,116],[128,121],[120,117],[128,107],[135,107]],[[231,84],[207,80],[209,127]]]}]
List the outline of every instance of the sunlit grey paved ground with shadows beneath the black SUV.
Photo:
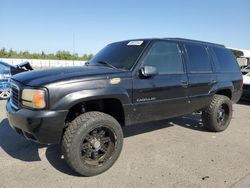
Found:
[{"label": "sunlit grey paved ground with shadows beneath the black SUV", "polygon": [[59,146],[17,135],[0,101],[0,187],[214,188],[250,183],[250,103],[234,106],[230,127],[222,133],[207,132],[196,115],[128,127],[124,134],[121,156],[109,171],[79,177],[61,159]]}]

